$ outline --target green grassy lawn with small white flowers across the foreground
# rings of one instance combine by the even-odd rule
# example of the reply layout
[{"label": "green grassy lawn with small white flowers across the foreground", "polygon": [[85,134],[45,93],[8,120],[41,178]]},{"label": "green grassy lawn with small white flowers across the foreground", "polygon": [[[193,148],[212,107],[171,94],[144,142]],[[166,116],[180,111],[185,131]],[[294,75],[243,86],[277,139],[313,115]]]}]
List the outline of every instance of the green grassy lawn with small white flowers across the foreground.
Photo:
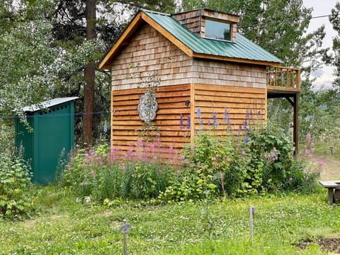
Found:
[{"label": "green grassy lawn with small white flowers across the foreground", "polygon": [[[38,215],[0,222],[0,254],[123,254],[123,219],[132,225],[129,254],[327,254],[317,244],[294,244],[340,237],[340,207],[327,203],[323,188],[181,205],[117,200],[111,207],[82,205],[53,186],[35,195]],[[250,205],[256,208],[252,243]]]}]

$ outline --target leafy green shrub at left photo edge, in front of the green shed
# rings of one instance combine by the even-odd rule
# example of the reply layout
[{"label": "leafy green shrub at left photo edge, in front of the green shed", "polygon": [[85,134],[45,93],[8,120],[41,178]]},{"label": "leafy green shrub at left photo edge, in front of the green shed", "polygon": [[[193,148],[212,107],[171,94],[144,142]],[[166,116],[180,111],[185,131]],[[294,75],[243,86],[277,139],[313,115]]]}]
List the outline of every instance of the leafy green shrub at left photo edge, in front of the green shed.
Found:
[{"label": "leafy green shrub at left photo edge, in front of the green shed", "polygon": [[32,210],[30,166],[21,154],[0,156],[0,216],[21,218]]}]

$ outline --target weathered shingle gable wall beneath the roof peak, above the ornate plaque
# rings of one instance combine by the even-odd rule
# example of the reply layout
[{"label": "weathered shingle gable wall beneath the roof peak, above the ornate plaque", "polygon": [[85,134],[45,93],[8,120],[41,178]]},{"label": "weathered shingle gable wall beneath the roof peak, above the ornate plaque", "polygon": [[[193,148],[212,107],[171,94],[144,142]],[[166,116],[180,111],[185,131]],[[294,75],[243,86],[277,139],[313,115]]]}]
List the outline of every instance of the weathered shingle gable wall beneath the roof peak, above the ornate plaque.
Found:
[{"label": "weathered shingle gable wall beneath the roof peak, above the ornate plaque", "polygon": [[193,60],[154,28],[145,24],[115,57],[112,66],[113,90],[136,89],[152,74],[159,86],[190,84]]}]

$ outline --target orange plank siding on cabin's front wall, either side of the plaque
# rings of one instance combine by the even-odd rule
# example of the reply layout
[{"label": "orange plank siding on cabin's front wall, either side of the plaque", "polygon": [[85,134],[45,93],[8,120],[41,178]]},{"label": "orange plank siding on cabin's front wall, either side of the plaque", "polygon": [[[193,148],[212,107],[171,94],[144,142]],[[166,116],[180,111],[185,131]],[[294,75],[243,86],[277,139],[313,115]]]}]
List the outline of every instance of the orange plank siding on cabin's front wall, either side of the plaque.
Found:
[{"label": "orange plank siding on cabin's front wall, either side of the plaque", "polygon": [[[140,120],[137,105],[145,89],[127,89],[112,91],[111,145],[113,148],[128,151],[136,145],[144,122]],[[162,152],[170,147],[176,153],[188,142],[190,130],[186,121],[190,115],[190,106],[185,101],[190,100],[190,85],[159,87],[157,91],[158,111],[153,121],[160,131]],[[180,125],[180,115],[183,115],[183,126]]]}]

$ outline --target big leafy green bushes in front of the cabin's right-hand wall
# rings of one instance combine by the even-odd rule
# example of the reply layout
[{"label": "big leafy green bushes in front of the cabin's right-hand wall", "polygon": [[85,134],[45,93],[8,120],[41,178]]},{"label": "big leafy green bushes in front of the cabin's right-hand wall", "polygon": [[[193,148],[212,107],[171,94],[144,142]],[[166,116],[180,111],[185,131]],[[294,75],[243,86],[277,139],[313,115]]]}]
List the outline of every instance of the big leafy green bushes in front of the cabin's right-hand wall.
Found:
[{"label": "big leafy green bushes in front of the cabin's right-hand wall", "polygon": [[317,175],[304,158],[293,156],[293,142],[278,125],[251,129],[247,135],[245,143],[243,137],[220,140],[210,131],[200,132],[195,145],[184,149],[182,169],[159,198],[183,201],[221,195],[243,197],[314,187]]}]

